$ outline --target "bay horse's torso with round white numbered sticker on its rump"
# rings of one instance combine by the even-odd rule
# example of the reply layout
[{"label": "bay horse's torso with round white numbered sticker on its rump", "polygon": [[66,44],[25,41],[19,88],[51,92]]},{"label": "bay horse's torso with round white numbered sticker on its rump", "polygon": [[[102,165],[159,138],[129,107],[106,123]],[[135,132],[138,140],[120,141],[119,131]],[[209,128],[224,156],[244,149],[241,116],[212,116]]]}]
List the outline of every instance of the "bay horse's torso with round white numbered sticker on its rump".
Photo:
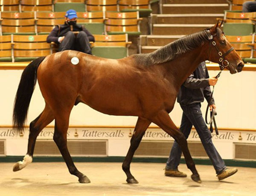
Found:
[{"label": "bay horse's torso with round white numbered sticker on its rump", "polygon": [[46,101],[58,104],[59,97],[70,107],[83,102],[111,115],[140,116],[147,108],[160,107],[165,94],[159,78],[132,57],[105,59],[77,51],[49,55],[38,68]]}]

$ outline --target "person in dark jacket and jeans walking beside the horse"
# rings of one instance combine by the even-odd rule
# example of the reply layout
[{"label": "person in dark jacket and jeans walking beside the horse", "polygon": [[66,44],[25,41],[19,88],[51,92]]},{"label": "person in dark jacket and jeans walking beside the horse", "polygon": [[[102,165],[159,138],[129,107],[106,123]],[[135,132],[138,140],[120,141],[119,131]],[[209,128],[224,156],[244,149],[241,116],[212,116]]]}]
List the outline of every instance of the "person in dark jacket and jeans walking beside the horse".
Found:
[{"label": "person in dark jacket and jeans walking beside the horse", "polygon": [[[204,149],[212,161],[213,167],[217,173],[218,179],[225,179],[237,172],[236,168],[228,169],[223,159],[215,149],[212,143],[212,135],[209,131],[201,112],[201,102],[204,98],[210,101],[210,110],[215,109],[214,100],[210,100],[211,89],[209,85],[214,86],[217,78],[209,78],[205,62],[199,64],[198,68],[183,83],[178,93],[177,101],[183,110],[180,131],[189,137],[192,125],[194,125]],[[165,175],[175,177],[186,177],[186,174],[178,170],[180,163],[181,149],[175,141],[170,156],[166,163]]]}]

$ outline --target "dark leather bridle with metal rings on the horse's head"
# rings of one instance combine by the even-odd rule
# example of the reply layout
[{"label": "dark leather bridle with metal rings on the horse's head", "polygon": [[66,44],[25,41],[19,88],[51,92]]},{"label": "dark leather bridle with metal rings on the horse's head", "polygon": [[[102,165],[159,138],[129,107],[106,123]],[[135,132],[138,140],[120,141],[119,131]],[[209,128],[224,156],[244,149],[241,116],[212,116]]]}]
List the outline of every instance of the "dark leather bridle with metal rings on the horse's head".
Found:
[{"label": "dark leather bridle with metal rings on the horse's head", "polygon": [[223,69],[225,69],[225,67],[229,66],[229,62],[227,60],[225,60],[225,56],[227,56],[230,52],[232,52],[234,50],[233,47],[231,47],[227,52],[225,52],[225,54],[223,55],[222,52],[218,49],[218,46],[216,45],[216,42],[213,40],[213,37],[215,37],[217,34],[215,35],[210,35],[208,37],[209,41],[210,41],[210,46],[209,46],[209,55],[208,55],[208,59],[209,59],[209,56],[210,56],[210,53],[211,53],[211,49],[212,49],[212,46],[215,47],[215,49],[217,50],[218,52],[218,55],[220,56],[220,59],[219,59],[219,66],[220,66],[220,69],[221,71]]}]

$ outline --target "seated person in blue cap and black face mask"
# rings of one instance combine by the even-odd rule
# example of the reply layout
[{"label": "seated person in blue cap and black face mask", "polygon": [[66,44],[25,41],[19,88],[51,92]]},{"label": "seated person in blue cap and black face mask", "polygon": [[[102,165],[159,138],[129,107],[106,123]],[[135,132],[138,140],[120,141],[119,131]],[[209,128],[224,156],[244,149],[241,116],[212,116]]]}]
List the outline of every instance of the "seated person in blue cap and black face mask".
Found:
[{"label": "seated person in blue cap and black face mask", "polygon": [[[85,28],[76,24],[76,11],[70,9],[65,14],[64,25],[55,26],[47,37],[47,42],[59,45],[58,51],[77,50],[92,54],[90,41],[95,41],[93,35]],[[76,32],[79,32],[77,35]]]}]

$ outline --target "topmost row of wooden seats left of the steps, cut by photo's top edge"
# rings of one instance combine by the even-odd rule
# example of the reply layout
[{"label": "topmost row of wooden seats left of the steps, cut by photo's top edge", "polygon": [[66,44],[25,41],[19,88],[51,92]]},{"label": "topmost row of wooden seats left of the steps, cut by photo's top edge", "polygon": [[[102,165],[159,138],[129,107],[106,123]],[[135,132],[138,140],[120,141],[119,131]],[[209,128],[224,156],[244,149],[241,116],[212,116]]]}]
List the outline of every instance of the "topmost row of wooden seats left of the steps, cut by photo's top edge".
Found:
[{"label": "topmost row of wooden seats left of the steps, cut by photo's top edge", "polygon": [[78,12],[94,11],[140,11],[141,17],[148,16],[150,4],[158,0],[1,0],[1,11],[49,11],[65,12],[75,9]]}]

